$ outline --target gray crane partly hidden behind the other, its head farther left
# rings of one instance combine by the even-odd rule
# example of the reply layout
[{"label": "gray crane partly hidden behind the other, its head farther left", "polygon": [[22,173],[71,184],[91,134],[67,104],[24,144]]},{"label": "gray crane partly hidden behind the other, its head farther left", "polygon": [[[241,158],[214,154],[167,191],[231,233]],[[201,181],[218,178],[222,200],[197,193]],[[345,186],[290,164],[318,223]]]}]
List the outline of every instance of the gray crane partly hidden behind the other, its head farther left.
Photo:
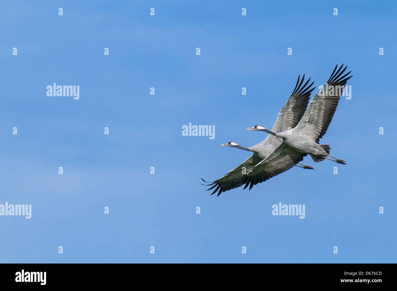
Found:
[{"label": "gray crane partly hidden behind the other, its head farther left", "polygon": [[[302,85],[304,80],[304,75],[300,83],[299,80],[300,80],[300,75],[298,76],[295,89],[293,90],[291,96],[288,98],[287,103],[285,103],[283,108],[281,108],[277,116],[276,122],[274,123],[274,126],[272,128],[272,131],[276,131],[276,132],[285,131],[286,129],[295,127],[298,124],[299,120],[301,120],[306,110],[307,104],[309,102],[310,93],[315,89],[315,87],[310,89],[310,87],[313,85],[314,82],[306,86],[309,83],[310,78],[306,81],[306,83],[304,83],[304,85]],[[243,177],[245,176],[245,173],[250,172],[256,164],[258,164],[269,154],[271,154],[276,148],[278,148],[279,145],[281,145],[281,143],[282,143],[282,139],[280,137],[276,137],[274,135],[268,135],[268,137],[266,137],[264,141],[249,148],[237,145],[237,143],[234,143],[233,141],[221,145],[221,146],[231,146],[243,150],[248,150],[252,152],[252,156],[250,156],[241,165],[229,171],[228,173],[226,173],[226,175],[224,175],[218,180],[215,180],[213,182],[207,182],[201,178],[202,181],[204,181],[205,183],[209,183],[202,185],[212,186],[207,190],[211,190],[215,188],[215,190],[211,193],[211,195],[214,194],[216,191],[218,191],[217,196],[219,196],[222,192],[242,186],[244,184]],[[297,167],[301,167],[304,169],[313,169],[312,167],[307,165],[303,165],[303,164],[300,165],[301,166],[297,166]]]}]

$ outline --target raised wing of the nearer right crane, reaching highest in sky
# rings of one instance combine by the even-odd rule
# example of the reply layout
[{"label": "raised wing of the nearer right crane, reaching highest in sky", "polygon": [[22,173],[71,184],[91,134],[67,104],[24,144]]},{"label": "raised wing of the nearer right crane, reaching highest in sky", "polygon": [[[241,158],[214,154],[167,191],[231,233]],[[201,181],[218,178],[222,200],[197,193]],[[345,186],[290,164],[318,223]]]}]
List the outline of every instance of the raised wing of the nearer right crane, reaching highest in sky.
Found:
[{"label": "raised wing of the nearer right crane, reaching highest in sky", "polygon": [[347,80],[353,77],[347,77],[351,71],[341,76],[347,68],[346,66],[341,71],[343,64],[335,72],[337,66],[333,69],[331,77],[324,85],[324,88],[313,97],[301,121],[296,126],[301,134],[306,135],[306,137],[317,143],[330,125]]}]

